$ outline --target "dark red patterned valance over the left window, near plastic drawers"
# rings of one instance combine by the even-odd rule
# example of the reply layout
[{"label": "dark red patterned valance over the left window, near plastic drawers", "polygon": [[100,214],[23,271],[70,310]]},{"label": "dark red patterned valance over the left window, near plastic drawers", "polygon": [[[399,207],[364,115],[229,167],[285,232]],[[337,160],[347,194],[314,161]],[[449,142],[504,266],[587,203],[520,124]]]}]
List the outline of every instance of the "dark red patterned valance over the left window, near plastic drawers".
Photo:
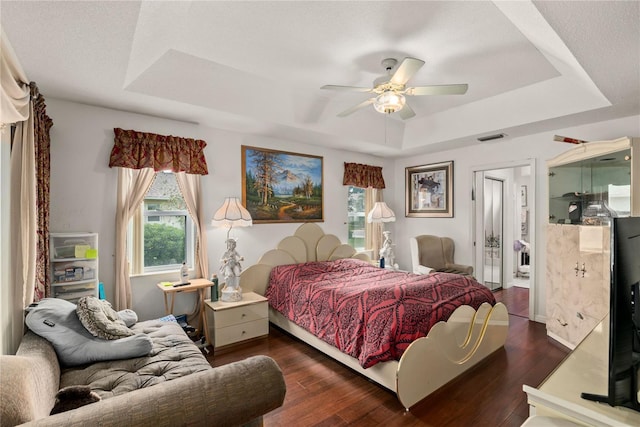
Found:
[{"label": "dark red patterned valance over the left window, near plastic drawers", "polygon": [[207,161],[201,139],[180,138],[135,130],[113,129],[115,140],[109,167],[153,168],[193,175],[207,175]]}]

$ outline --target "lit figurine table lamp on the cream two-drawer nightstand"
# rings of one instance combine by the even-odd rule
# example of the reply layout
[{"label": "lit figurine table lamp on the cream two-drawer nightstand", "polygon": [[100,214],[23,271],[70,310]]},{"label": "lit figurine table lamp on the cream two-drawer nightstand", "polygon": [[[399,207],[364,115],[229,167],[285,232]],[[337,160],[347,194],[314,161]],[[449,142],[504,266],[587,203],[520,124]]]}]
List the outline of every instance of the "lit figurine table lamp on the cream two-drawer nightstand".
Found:
[{"label": "lit figurine table lamp on the cream two-drawer nightstand", "polygon": [[253,225],[251,214],[242,206],[237,197],[227,197],[220,209],[213,215],[211,224],[214,227],[229,227],[226,240],[227,250],[220,259],[220,273],[225,279],[220,301],[240,301],[242,300],[242,289],[240,289],[242,265],[240,265],[240,261],[244,261],[244,257],[236,252],[237,239],[229,237],[229,233],[233,227]]}]

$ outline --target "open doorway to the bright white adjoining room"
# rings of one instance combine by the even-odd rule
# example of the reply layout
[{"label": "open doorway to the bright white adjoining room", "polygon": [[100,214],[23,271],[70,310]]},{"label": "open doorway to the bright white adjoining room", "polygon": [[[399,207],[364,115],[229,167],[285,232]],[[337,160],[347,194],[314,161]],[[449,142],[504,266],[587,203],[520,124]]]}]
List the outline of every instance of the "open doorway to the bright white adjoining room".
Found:
[{"label": "open doorway to the bright white adjoining room", "polygon": [[473,171],[476,279],[510,314],[534,318],[535,163],[491,165]]}]

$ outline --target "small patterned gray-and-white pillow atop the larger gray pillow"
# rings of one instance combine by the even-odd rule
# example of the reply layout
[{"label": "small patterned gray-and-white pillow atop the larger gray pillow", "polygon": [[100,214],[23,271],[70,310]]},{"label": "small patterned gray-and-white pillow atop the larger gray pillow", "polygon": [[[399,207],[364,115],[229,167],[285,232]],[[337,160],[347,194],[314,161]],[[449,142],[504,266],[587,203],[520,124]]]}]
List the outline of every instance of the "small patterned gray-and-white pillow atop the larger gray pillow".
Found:
[{"label": "small patterned gray-and-white pillow atop the larger gray pillow", "polygon": [[82,297],[78,300],[76,313],[80,322],[94,337],[117,340],[135,335],[107,300]]}]

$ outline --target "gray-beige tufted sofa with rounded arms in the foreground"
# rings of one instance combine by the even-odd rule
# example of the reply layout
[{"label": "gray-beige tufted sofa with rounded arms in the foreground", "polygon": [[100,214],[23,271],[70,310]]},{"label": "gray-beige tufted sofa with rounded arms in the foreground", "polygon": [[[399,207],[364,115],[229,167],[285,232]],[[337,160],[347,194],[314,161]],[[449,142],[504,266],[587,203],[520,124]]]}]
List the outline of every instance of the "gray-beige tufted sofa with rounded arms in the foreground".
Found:
[{"label": "gray-beige tufted sofa with rounded arms in the foreground", "polygon": [[[284,401],[275,361],[254,356],[212,368],[175,322],[132,327],[148,333],[151,355],[61,367],[44,338],[27,332],[15,356],[0,356],[0,424],[5,426],[261,425]],[[49,415],[62,387],[89,385],[102,400]]]}]

